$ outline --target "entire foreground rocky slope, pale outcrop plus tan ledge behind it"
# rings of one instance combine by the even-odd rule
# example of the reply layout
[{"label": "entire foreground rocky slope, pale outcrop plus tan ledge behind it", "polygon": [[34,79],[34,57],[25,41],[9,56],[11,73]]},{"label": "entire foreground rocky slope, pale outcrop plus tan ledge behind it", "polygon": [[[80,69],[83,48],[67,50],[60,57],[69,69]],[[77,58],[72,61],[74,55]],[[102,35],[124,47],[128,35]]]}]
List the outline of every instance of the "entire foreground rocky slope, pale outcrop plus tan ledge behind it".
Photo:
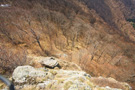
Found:
[{"label": "entire foreground rocky slope, pale outcrop plus tan ledge behind it", "polygon": [[[16,90],[131,90],[127,83],[118,82],[113,78],[91,77],[74,63],[54,57],[53,60],[52,57],[37,58],[46,64],[50,60],[52,63],[49,66],[55,65],[53,61],[56,61],[61,68],[57,65],[53,66],[54,69],[43,66],[18,66],[12,74]],[[65,62],[68,63],[70,70],[62,64]]]}]

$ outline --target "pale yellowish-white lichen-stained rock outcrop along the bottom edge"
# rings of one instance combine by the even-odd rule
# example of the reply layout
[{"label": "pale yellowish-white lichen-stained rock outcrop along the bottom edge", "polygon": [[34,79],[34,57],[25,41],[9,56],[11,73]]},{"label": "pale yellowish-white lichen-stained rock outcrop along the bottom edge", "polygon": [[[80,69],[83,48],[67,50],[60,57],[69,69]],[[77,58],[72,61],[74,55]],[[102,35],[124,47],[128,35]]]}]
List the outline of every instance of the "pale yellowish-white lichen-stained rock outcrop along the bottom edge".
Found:
[{"label": "pale yellowish-white lichen-stained rock outcrop along the bottom edge", "polygon": [[[122,90],[109,86],[94,84],[93,78],[83,71],[35,69],[32,66],[19,66],[13,72],[17,90]],[[102,78],[105,80],[106,78]],[[111,79],[110,79],[111,80]],[[100,81],[100,80],[99,80]],[[105,83],[105,81],[104,81]],[[118,83],[118,82],[117,82]],[[124,90],[131,90],[122,83]]]}]

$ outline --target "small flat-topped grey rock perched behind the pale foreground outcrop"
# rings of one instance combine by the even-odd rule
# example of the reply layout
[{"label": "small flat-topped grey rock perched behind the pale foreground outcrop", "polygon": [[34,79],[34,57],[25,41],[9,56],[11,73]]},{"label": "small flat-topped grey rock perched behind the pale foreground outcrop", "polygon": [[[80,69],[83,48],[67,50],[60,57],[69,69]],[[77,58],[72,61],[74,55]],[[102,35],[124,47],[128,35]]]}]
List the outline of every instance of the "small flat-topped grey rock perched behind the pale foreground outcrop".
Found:
[{"label": "small flat-topped grey rock perched behind the pale foreground outcrop", "polygon": [[58,61],[53,57],[45,57],[42,60],[40,60],[39,62],[42,65],[49,67],[49,68],[54,68],[59,65]]}]

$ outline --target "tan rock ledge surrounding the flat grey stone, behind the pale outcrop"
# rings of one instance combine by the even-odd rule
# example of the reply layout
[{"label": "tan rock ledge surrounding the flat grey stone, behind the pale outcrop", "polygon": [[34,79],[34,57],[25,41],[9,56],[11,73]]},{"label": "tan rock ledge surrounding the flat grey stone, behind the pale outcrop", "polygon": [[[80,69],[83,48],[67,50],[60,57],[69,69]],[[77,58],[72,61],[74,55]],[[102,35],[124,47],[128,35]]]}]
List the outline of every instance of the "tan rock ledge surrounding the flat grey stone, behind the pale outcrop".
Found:
[{"label": "tan rock ledge surrounding the flat grey stone, behind the pale outcrop", "polygon": [[[28,56],[29,59],[31,59],[30,65],[35,67],[35,68],[42,68],[43,66],[46,67],[46,65],[43,64],[43,62],[45,62],[46,60],[49,61],[52,57],[42,57],[42,56]],[[75,63],[72,62],[68,62],[65,60],[61,60],[61,59],[57,59],[54,58],[55,63],[52,63],[54,69],[63,69],[63,70],[77,70],[77,71],[81,71],[82,69]],[[43,62],[42,62],[43,61]],[[46,62],[45,62],[46,63]],[[50,63],[50,62],[49,62]],[[57,64],[58,63],[58,64]],[[46,68],[50,68],[50,67],[46,67]]]}]

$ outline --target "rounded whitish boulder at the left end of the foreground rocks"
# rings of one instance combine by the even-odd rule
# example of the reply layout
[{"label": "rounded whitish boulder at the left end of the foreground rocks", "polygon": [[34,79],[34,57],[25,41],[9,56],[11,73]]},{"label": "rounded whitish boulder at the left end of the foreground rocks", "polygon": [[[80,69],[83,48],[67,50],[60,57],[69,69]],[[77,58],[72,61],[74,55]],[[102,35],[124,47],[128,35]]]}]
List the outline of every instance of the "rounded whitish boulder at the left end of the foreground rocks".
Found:
[{"label": "rounded whitish boulder at the left end of the foreground rocks", "polygon": [[37,78],[45,78],[46,74],[46,72],[36,70],[31,66],[18,66],[14,70],[12,78],[16,84],[34,83]]}]

